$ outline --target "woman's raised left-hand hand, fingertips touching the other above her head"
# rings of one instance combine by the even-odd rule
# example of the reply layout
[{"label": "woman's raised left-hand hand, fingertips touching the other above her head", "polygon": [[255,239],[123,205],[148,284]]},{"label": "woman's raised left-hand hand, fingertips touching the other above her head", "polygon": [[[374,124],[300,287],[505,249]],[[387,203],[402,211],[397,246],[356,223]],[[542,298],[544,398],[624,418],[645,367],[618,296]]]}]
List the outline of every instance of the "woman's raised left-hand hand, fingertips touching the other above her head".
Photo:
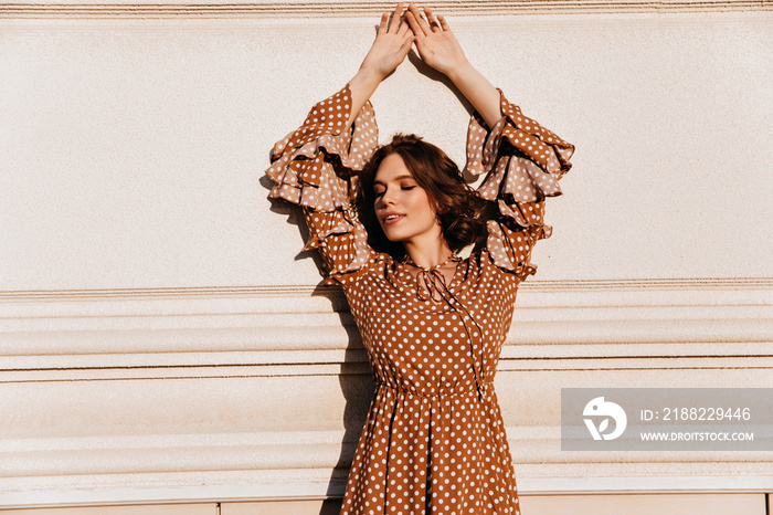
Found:
[{"label": "woman's raised left-hand hand, fingertips touching the other above her head", "polygon": [[380,81],[385,78],[403,62],[413,45],[413,32],[407,23],[400,23],[402,12],[403,4],[398,3],[392,13],[391,22],[389,21],[389,13],[381,15],[381,23],[379,24],[373,46],[371,46],[360,66],[360,70],[374,73]]}]

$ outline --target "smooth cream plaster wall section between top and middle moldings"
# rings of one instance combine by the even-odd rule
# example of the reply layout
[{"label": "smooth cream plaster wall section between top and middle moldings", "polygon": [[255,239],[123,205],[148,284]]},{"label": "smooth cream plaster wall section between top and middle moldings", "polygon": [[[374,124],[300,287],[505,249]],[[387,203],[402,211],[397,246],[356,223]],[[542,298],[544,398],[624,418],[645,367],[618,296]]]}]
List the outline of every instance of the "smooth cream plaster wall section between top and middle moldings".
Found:
[{"label": "smooth cream plaster wall section between top and middle moldings", "polygon": [[[538,278],[773,275],[770,13],[451,22],[578,146]],[[318,281],[258,178],[354,73],[372,19],[0,23],[2,290]],[[466,112],[423,72],[377,91],[381,139],[415,132],[463,161]]]}]

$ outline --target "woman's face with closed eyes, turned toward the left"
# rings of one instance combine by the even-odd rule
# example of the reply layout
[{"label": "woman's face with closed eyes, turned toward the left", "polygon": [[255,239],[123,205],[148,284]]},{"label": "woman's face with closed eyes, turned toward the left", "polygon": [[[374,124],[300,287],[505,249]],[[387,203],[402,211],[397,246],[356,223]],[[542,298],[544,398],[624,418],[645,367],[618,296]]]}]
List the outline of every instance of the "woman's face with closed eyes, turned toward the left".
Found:
[{"label": "woman's face with closed eyes, turned toward the left", "polygon": [[373,192],[375,217],[391,241],[433,245],[442,241],[443,231],[430,197],[399,154],[390,154],[379,165]]}]

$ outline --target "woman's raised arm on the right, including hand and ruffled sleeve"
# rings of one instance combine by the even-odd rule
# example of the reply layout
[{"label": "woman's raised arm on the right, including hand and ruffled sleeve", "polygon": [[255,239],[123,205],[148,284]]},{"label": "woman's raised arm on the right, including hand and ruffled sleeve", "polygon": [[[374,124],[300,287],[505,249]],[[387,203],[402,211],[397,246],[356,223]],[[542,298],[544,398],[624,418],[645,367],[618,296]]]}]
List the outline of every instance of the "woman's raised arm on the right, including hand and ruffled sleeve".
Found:
[{"label": "woman's raised arm on the right, including hand and ruffled sleeve", "polygon": [[448,76],[476,109],[465,169],[486,175],[478,195],[499,209],[487,223],[484,250],[497,266],[523,280],[536,270],[530,263],[534,243],[550,237],[544,199],[561,195],[558,181],[571,167],[574,147],[523,116],[475,70],[443,17],[411,4],[405,19],[424,62]]}]

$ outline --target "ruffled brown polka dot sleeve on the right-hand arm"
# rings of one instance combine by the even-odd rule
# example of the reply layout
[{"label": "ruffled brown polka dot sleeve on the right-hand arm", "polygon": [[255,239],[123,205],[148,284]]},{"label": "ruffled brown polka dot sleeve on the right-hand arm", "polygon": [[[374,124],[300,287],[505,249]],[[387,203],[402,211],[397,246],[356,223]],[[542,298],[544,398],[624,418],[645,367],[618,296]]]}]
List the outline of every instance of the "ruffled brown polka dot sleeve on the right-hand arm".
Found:
[{"label": "ruffled brown polka dot sleeve on the right-hand arm", "polygon": [[550,238],[544,199],[561,195],[559,179],[571,168],[574,146],[499,93],[502,117],[490,130],[477,113],[469,122],[466,170],[487,174],[478,193],[499,208],[498,218],[488,221],[485,250],[497,266],[523,280],[537,270],[530,262],[534,243]]}]

